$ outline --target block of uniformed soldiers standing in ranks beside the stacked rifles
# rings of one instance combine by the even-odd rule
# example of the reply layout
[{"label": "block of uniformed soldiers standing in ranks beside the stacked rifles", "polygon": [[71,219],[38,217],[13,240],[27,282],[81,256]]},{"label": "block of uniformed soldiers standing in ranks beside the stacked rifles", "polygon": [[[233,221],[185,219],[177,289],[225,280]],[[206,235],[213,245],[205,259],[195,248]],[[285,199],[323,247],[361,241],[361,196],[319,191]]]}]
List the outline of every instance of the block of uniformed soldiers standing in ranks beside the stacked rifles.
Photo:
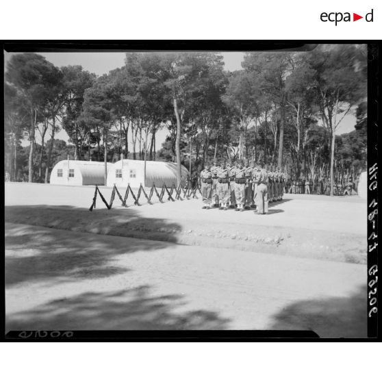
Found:
[{"label": "block of uniformed soldiers standing in ranks beside the stacked rifles", "polygon": [[[203,209],[219,207],[236,211],[256,208],[257,214],[268,212],[268,203],[283,197],[285,175],[275,166],[255,164],[253,160],[233,163],[221,160],[219,164],[205,163],[201,171]],[[214,203],[212,203],[214,201]]]}]

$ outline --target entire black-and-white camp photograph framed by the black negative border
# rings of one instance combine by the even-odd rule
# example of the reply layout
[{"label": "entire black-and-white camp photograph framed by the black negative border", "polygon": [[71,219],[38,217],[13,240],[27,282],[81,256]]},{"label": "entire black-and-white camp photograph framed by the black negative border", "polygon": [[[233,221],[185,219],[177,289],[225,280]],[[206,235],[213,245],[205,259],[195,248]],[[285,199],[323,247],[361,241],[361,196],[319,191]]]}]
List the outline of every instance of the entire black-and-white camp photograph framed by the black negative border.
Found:
[{"label": "entire black-and-white camp photograph framed by the black negative border", "polygon": [[368,337],[367,44],[3,47],[5,335]]}]

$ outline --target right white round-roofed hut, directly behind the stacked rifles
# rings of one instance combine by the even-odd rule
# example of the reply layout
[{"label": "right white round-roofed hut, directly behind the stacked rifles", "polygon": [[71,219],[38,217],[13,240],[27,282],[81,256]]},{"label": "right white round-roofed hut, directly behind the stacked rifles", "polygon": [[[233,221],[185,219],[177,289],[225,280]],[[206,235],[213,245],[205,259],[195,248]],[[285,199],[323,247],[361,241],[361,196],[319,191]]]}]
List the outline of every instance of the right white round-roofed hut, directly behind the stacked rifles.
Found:
[{"label": "right white round-roofed hut, directly behind the stacked rifles", "polygon": [[[186,167],[181,166],[182,184],[186,183],[188,175]],[[146,162],[146,184],[144,184],[144,161],[143,160],[119,160],[112,164],[107,171],[107,186],[127,187],[127,184],[133,188],[142,186],[161,188],[177,186],[177,164],[172,162],[155,162],[148,160]]]}]

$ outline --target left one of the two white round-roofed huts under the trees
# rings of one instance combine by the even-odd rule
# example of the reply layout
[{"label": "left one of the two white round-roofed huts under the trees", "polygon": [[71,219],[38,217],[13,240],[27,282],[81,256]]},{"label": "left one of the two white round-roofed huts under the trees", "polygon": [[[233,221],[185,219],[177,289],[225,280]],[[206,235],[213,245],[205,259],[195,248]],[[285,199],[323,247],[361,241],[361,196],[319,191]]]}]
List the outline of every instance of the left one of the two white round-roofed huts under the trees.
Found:
[{"label": "left one of the two white round-roofed huts under the trees", "polygon": [[[112,166],[107,163],[107,169]],[[84,160],[62,160],[51,171],[51,184],[104,186],[105,163]]]}]

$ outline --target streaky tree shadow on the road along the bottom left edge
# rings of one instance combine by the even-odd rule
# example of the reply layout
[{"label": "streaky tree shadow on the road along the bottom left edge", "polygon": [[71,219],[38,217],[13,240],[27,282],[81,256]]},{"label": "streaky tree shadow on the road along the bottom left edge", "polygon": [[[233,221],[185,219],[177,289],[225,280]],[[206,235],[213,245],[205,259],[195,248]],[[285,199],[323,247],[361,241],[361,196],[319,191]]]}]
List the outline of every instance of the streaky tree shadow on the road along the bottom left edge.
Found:
[{"label": "streaky tree shadow on the road along the bottom left edge", "polygon": [[[206,330],[227,329],[213,311],[185,311],[183,296],[152,296],[149,285],[118,292],[86,292],[6,318],[9,330]],[[175,309],[183,307],[181,313]]]}]

